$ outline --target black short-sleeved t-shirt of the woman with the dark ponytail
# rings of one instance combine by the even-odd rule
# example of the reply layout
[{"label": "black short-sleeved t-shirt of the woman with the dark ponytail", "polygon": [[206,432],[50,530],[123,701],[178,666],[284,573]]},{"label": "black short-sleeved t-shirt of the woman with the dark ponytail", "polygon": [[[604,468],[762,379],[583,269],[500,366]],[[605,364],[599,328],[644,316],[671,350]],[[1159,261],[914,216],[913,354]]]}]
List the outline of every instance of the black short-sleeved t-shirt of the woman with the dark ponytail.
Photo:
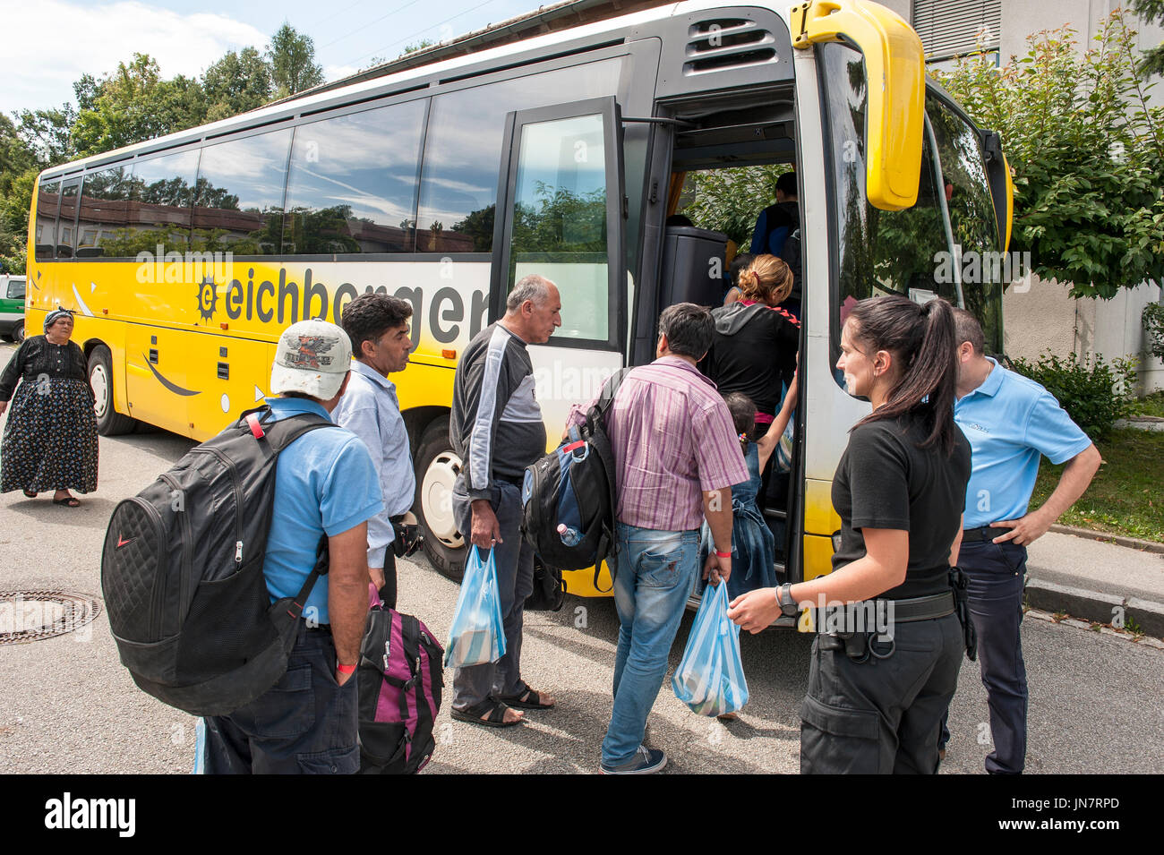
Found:
[{"label": "black short-sleeved t-shirt of the woman with the dark ponytail", "polygon": [[970,443],[954,426],[954,448],[918,448],[929,429],[920,413],[860,425],[849,435],[832,477],[840,514],[833,570],[865,556],[863,528],[909,532],[906,580],[880,594],[925,597],[949,590],[950,547],[961,525],[970,480]]}]

